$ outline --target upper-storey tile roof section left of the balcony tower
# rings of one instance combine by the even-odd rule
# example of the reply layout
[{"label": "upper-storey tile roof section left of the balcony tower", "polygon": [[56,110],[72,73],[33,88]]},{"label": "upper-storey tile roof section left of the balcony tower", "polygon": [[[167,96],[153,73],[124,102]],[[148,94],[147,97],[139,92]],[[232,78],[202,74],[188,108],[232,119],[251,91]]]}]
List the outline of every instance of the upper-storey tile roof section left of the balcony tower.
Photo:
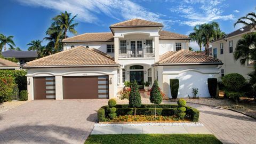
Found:
[{"label": "upper-storey tile roof section left of the balcony tower", "polygon": [[62,42],[114,42],[112,33],[85,33],[63,39]]}]

